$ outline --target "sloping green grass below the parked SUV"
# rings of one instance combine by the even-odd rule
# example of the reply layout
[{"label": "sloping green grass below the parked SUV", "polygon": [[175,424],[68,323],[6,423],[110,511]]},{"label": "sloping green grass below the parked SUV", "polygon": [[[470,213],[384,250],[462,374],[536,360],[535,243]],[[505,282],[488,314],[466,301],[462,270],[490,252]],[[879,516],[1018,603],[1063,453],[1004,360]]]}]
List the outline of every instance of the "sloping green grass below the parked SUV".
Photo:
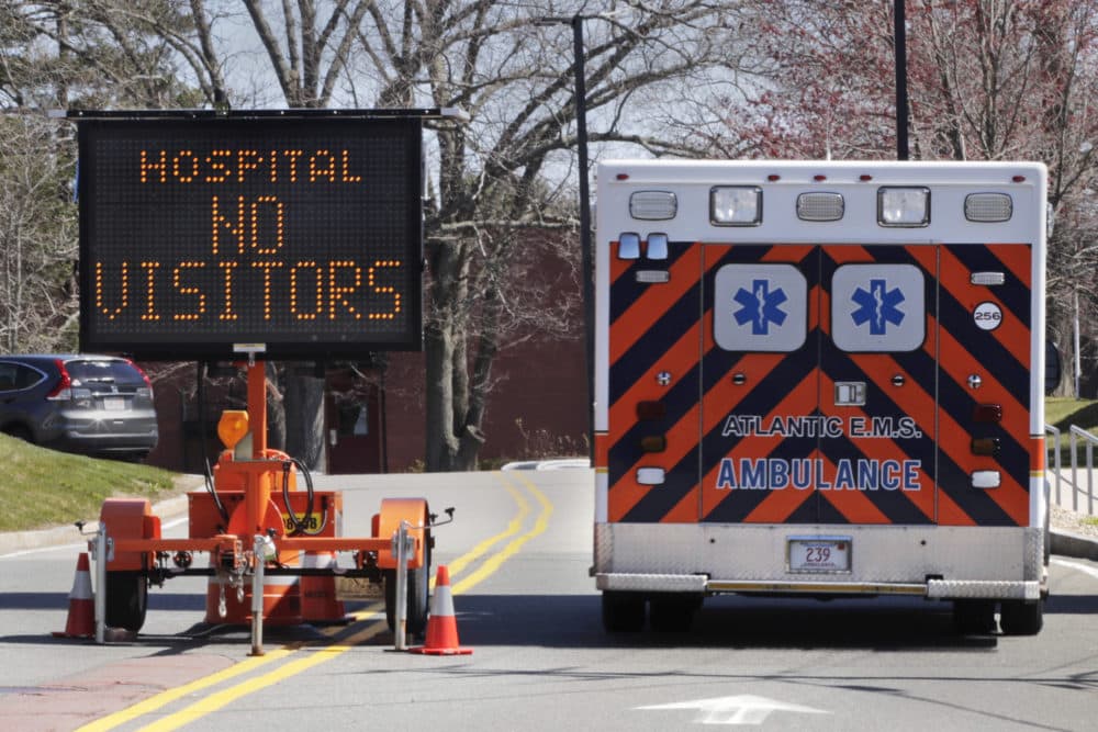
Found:
[{"label": "sloping green grass below the parked SUV", "polygon": [[158,500],[177,493],[177,474],[114,460],[56,452],[0,435],[0,531],[96,521],[103,499]]}]

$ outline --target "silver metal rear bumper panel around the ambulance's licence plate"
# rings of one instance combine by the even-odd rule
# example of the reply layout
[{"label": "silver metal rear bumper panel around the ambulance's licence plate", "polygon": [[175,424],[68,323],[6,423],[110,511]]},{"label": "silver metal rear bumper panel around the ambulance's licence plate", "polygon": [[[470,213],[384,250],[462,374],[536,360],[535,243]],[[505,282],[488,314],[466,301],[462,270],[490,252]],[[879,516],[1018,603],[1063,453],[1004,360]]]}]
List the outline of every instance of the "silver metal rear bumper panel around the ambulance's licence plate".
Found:
[{"label": "silver metal rear bumper panel around the ambulance's licence plate", "polygon": [[[788,539],[848,537],[850,571],[791,572]],[[1035,600],[1043,532],[1020,527],[640,525],[595,527],[601,590]]]}]

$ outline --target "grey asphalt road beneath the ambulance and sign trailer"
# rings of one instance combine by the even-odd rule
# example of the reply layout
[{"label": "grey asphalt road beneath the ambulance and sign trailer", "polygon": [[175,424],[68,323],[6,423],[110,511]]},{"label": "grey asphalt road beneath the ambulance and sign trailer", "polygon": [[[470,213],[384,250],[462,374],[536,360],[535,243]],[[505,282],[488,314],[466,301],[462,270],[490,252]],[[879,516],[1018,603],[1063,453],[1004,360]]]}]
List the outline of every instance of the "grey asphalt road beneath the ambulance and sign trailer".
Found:
[{"label": "grey asphalt road beneath the ambulance and sign trailer", "polygon": [[[205,581],[150,594],[131,642],[54,639],[81,547],[0,558],[0,725],[10,730],[1094,729],[1098,564],[1056,556],[1035,638],[959,637],[949,606],[707,600],[690,633],[607,635],[591,564],[591,473],[321,477],[344,534],[382,497],[455,506],[436,532],[466,656],[393,653],[377,607],[348,626],[202,623]],[[166,533],[184,526],[165,518]],[[75,530],[74,530],[75,534]],[[74,536],[75,538],[75,536]],[[383,613],[382,613],[383,616]]]}]

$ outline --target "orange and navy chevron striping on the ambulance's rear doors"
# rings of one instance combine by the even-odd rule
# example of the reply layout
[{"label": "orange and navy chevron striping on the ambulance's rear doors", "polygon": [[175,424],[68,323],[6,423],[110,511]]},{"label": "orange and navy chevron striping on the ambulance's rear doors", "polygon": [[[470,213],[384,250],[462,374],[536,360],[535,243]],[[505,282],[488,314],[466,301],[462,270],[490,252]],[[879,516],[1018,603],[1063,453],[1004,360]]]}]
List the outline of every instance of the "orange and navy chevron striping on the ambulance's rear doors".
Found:
[{"label": "orange and navy chevron striping on the ambulance's rear doors", "polygon": [[[657,284],[636,277],[651,262],[614,255],[609,520],[1028,522],[1034,453],[1029,436],[1030,246],[673,243],[668,281]],[[793,351],[730,351],[715,342],[715,308],[728,306],[714,302],[716,272],[758,263],[792,264],[804,275],[807,337]],[[920,346],[896,352],[847,352],[836,346],[832,279],[839,268],[858,263],[921,272],[926,324]],[[1005,272],[1006,283],[973,284],[971,274],[977,271]],[[984,330],[974,324],[981,303],[1001,309],[1000,327]],[[978,388],[968,384],[974,374],[981,376]],[[840,383],[862,384],[864,405],[838,406]],[[641,404],[659,408],[646,410]],[[1001,420],[978,421],[982,404],[1000,406]],[[740,417],[754,427],[729,433],[729,419]],[[830,429],[791,435],[760,427],[789,417]],[[870,427],[859,433],[855,425]],[[662,450],[646,452],[645,438],[652,437],[663,438]],[[998,449],[975,454],[974,439],[994,440]],[[776,465],[786,472],[786,484],[781,489],[731,487],[721,483],[729,465]],[[871,489],[859,489],[849,475],[843,483],[842,471],[853,465],[872,475]],[[643,466],[663,468],[664,483],[640,485],[636,472]],[[977,470],[999,471],[1000,486],[973,487],[970,475]],[[792,481],[789,471],[795,472]],[[888,481],[903,481],[903,487],[886,489]]]}]

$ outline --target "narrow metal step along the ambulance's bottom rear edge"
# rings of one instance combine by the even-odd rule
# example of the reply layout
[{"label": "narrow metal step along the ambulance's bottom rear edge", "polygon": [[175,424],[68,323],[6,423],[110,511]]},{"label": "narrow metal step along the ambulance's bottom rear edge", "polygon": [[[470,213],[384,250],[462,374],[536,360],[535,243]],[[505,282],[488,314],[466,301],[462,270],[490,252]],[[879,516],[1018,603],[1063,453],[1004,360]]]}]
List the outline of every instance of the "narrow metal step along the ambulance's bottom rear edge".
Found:
[{"label": "narrow metal step along the ambulance's bottom rear edge", "polygon": [[908,595],[929,599],[1037,600],[1038,582],[931,579],[927,583],[709,579],[705,575],[598,573],[601,590],[628,593]]}]

